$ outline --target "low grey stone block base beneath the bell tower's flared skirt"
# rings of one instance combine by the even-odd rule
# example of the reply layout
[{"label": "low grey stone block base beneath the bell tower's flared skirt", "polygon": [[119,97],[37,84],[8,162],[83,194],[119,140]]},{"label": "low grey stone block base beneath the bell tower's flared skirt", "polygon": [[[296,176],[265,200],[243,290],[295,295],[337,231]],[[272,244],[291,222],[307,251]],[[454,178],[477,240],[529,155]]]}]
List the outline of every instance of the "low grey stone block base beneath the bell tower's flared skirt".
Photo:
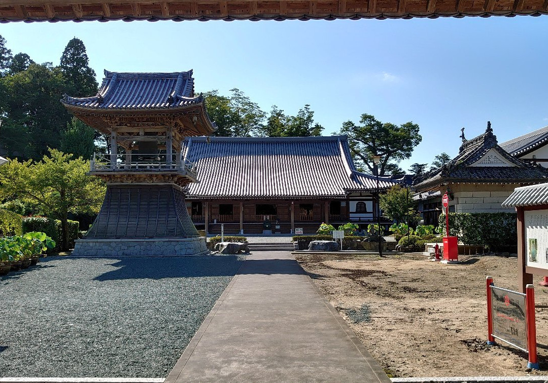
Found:
[{"label": "low grey stone block base beneath the bell tower's flared skirt", "polygon": [[80,257],[196,256],[206,253],[206,237],[180,239],[79,239],[72,255]]}]

